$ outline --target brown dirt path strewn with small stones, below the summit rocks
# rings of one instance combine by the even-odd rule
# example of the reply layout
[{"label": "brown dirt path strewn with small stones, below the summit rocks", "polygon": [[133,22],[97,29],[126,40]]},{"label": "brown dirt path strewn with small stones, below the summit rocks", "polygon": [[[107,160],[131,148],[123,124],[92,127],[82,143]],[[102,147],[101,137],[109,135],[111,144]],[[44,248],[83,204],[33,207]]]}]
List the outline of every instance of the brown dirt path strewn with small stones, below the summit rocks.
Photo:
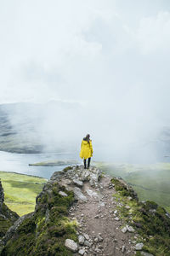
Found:
[{"label": "brown dirt path strewn with small stones, below the summit rocks", "polygon": [[[122,220],[113,198],[116,193],[111,177],[102,177],[98,188],[84,182],[82,194],[87,201],[77,201],[70,210],[70,218],[77,219],[79,253],[75,255],[134,255],[134,233],[122,232]],[[137,238],[137,237],[135,237]]]}]

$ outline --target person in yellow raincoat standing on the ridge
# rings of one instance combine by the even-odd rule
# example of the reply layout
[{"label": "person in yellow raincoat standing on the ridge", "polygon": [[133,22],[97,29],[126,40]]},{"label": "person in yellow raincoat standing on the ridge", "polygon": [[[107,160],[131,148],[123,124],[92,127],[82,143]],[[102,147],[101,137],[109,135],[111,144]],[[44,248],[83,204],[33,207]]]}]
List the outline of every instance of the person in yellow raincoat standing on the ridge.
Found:
[{"label": "person in yellow raincoat standing on the ridge", "polygon": [[87,134],[86,137],[82,139],[80,157],[84,160],[84,169],[86,169],[86,160],[88,159],[88,168],[90,166],[90,160],[93,156],[93,146],[92,141],[90,140],[90,135]]}]

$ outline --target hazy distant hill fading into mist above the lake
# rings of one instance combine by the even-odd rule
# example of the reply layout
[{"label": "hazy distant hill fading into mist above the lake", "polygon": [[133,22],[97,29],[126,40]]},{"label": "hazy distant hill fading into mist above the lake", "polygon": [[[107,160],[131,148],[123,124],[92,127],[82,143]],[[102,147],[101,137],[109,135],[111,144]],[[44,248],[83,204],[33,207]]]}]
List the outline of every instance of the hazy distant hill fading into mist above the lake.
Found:
[{"label": "hazy distant hill fading into mist above the lake", "polygon": [[15,153],[64,151],[61,132],[65,129],[67,115],[74,120],[79,108],[77,103],[68,102],[0,105],[0,150]]}]

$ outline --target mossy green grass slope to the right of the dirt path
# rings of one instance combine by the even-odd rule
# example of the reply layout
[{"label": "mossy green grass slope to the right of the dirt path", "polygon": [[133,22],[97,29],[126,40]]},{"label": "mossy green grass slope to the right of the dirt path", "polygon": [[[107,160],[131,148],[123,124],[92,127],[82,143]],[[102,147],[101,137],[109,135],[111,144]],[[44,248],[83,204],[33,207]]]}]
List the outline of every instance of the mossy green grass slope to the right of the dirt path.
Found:
[{"label": "mossy green grass slope to the right of the dirt path", "polygon": [[170,219],[165,209],[154,201],[139,202],[133,196],[132,189],[127,189],[127,186],[116,178],[112,178],[111,182],[115,184],[116,189],[114,198],[122,202],[122,207],[117,207],[119,216],[139,233],[138,242],[144,243],[143,250],[155,256],[169,256]]}]

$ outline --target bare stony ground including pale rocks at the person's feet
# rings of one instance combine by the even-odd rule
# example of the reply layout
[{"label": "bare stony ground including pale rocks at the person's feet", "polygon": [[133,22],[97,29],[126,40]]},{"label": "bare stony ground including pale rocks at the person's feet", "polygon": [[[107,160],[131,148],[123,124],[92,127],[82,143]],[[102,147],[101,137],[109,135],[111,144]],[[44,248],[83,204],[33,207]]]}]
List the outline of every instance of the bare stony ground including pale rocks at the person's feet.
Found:
[{"label": "bare stony ground including pale rocks at the person's feet", "polygon": [[123,205],[113,196],[116,190],[111,177],[103,175],[96,167],[84,170],[83,166],[67,170],[64,179],[59,179],[58,175],[55,172],[51,179],[58,179],[60,185],[73,190],[77,199],[70,208],[69,217],[77,220],[78,242],[67,239],[66,247],[75,255],[84,256],[134,255],[136,250],[141,251],[143,244],[137,243],[138,234],[119,218],[117,206]]}]

